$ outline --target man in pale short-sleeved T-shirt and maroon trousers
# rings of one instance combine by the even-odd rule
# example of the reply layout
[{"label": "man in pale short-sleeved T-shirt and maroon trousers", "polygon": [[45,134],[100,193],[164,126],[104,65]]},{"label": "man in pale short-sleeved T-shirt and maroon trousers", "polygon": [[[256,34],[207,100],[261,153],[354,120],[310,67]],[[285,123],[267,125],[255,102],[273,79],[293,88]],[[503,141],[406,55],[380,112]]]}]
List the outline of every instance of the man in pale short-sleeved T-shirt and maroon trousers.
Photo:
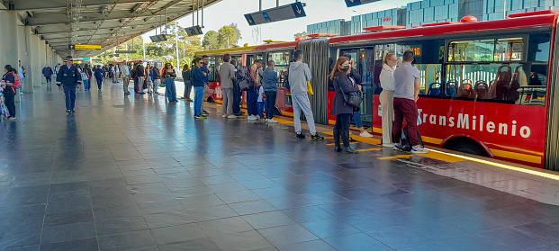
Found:
[{"label": "man in pale short-sleeved T-shirt and maroon trousers", "polygon": [[412,153],[428,153],[428,150],[419,145],[418,141],[418,107],[421,75],[419,69],[413,67],[411,62],[413,52],[406,50],[403,53],[401,66],[394,70],[394,124],[392,126],[392,142],[394,149],[400,149],[401,127],[406,120]]}]

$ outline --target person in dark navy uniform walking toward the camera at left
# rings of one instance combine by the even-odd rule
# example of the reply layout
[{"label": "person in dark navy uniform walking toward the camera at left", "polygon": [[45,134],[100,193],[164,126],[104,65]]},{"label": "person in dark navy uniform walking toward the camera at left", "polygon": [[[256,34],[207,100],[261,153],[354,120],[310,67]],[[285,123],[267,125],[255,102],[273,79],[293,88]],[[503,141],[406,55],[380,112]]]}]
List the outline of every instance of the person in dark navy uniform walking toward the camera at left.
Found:
[{"label": "person in dark navy uniform walking toward the camera at left", "polygon": [[60,67],[59,75],[57,76],[57,85],[64,87],[64,94],[66,95],[66,112],[76,112],[76,89],[82,84],[82,75],[77,71],[77,67],[73,66],[74,59],[72,56],[66,57],[66,65]]}]

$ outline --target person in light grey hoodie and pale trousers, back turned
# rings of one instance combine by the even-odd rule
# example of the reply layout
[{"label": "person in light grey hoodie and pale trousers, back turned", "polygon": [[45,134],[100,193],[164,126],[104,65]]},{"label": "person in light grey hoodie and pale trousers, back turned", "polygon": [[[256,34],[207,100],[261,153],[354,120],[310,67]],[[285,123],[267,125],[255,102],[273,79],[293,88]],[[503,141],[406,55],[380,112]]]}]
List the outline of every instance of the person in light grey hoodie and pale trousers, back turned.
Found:
[{"label": "person in light grey hoodie and pale trousers, back turned", "polygon": [[293,54],[294,62],[289,64],[289,85],[291,86],[291,98],[293,103],[293,122],[295,124],[295,132],[297,139],[305,139],[301,131],[301,112],[304,112],[307,118],[309,130],[311,130],[311,139],[324,139],[316,132],[314,126],[314,117],[311,110],[311,101],[307,94],[307,81],[311,81],[311,69],[309,65],[302,62],[302,51],[295,50]]}]

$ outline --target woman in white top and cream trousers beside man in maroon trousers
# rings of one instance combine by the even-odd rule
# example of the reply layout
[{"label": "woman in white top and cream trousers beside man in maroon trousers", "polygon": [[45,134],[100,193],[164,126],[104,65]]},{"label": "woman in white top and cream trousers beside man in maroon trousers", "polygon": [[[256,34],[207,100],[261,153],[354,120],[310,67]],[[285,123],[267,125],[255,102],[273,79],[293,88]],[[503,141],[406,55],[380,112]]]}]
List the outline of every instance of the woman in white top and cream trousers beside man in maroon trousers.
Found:
[{"label": "woman in white top and cream trousers beside man in maroon trousers", "polygon": [[398,64],[398,58],[394,53],[387,53],[383,60],[383,70],[379,77],[381,81],[381,92],[379,98],[381,101],[382,121],[383,121],[383,147],[393,148],[392,143],[392,122],[394,121],[394,70]]}]

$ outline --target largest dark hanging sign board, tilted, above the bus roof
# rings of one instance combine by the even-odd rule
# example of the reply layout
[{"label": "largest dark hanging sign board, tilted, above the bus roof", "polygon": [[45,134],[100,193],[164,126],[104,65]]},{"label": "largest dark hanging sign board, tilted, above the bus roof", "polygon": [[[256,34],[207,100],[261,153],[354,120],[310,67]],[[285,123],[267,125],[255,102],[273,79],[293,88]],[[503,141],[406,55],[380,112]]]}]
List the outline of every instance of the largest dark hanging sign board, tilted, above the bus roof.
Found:
[{"label": "largest dark hanging sign board, tilted, above the bus roof", "polygon": [[267,22],[278,22],[303,17],[307,16],[303,9],[304,6],[306,6],[306,4],[301,2],[287,4],[257,13],[245,14],[245,19],[247,19],[248,25],[258,25]]}]

